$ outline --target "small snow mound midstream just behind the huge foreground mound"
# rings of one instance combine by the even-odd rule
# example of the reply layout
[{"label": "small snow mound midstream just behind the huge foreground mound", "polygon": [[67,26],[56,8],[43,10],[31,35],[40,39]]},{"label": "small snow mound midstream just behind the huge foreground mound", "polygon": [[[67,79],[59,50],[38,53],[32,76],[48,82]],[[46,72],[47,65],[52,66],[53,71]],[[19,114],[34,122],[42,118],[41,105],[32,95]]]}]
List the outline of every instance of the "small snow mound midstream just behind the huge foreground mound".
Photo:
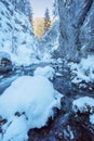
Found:
[{"label": "small snow mound midstream just behind the huge foreground mound", "polygon": [[45,67],[38,67],[35,72],[33,72],[35,76],[44,76],[46,78],[53,79],[54,75],[55,75],[55,70],[53,67],[51,66],[45,66]]}]

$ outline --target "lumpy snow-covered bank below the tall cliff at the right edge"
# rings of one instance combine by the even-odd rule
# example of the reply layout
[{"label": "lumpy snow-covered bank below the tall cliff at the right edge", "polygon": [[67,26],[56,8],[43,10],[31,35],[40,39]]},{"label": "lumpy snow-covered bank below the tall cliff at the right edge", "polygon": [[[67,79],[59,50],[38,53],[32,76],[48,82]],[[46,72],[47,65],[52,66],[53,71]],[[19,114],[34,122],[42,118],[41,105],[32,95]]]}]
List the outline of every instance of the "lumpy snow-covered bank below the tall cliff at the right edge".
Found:
[{"label": "lumpy snow-covered bank below the tall cliff at the right edge", "polygon": [[72,79],[73,84],[94,81],[94,55],[88,56],[88,59],[82,59],[79,64],[70,63],[70,68],[76,77]]}]

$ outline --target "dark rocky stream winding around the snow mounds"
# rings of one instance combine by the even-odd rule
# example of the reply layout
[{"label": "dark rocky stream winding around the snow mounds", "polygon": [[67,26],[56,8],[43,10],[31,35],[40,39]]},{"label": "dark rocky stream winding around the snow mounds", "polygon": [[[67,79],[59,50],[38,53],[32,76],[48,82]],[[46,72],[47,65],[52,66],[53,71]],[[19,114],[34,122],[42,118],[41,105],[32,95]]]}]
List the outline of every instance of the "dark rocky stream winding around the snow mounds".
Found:
[{"label": "dark rocky stream winding around the snow mounds", "polygon": [[[28,141],[94,141],[94,128],[89,128],[90,125],[84,125],[84,119],[81,123],[77,120],[71,112],[72,101],[82,95],[94,97],[94,87],[92,90],[88,88],[79,88],[71,84],[70,69],[62,64],[33,64],[30,66],[15,66],[14,70],[9,75],[0,77],[0,94],[10,87],[12,81],[23,75],[33,75],[33,70],[41,66],[51,65],[56,73],[61,73],[52,80],[54,88],[65,97],[62,100],[62,110],[56,111],[54,120],[50,119],[49,126],[41,129],[30,129],[28,131]],[[83,117],[82,117],[83,118]],[[91,132],[91,129],[93,130]]]}]

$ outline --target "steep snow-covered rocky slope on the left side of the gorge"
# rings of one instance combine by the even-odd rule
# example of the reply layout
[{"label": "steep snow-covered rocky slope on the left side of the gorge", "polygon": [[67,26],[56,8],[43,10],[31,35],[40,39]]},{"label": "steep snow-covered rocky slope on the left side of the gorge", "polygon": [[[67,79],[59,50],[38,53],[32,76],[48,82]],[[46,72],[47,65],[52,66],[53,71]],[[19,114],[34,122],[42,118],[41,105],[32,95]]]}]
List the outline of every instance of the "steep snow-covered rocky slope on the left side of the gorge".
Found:
[{"label": "steep snow-covered rocky slope on the left side of the gorge", "polygon": [[0,0],[0,51],[14,63],[31,64],[37,61],[37,46],[28,18],[10,0]]}]

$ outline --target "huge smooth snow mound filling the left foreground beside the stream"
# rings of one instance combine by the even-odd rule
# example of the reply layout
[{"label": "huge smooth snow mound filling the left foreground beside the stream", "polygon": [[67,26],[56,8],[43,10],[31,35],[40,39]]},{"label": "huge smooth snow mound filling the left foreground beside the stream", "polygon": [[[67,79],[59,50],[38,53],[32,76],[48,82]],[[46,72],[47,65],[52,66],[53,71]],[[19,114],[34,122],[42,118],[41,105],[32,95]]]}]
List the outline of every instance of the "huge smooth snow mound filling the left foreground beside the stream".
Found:
[{"label": "huge smooth snow mound filling the left foreground beside the stream", "polygon": [[22,76],[0,95],[2,141],[24,141],[31,128],[46,125],[54,117],[53,108],[61,108],[62,94],[43,76]]}]

